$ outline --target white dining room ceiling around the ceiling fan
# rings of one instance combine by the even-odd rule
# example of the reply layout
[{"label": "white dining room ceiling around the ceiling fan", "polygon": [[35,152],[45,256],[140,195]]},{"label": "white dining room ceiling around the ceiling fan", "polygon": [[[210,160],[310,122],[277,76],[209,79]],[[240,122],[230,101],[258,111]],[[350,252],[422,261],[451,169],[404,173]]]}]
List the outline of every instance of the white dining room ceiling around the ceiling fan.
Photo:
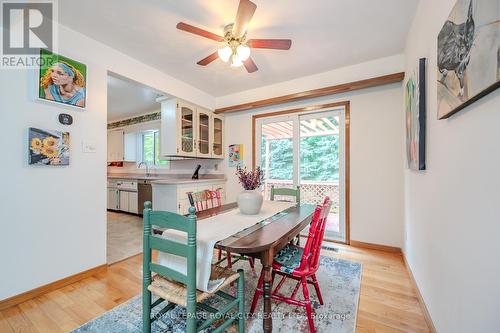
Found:
[{"label": "white dining room ceiling around the ceiling fan", "polygon": [[64,0],[61,23],[215,97],[403,51],[418,0],[253,0],[249,38],[290,38],[289,51],[252,50],[248,74],[217,59],[220,45],[175,28],[179,21],[222,34],[238,0]]}]

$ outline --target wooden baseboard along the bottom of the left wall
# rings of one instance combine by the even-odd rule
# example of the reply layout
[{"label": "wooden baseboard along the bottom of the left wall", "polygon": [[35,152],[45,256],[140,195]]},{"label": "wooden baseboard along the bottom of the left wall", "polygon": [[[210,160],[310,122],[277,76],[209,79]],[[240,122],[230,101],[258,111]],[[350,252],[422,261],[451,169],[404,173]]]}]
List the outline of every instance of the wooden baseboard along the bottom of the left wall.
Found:
[{"label": "wooden baseboard along the bottom of the left wall", "polygon": [[80,273],[77,273],[77,274],[65,277],[65,278],[63,278],[61,280],[57,280],[55,282],[46,284],[44,286],[41,286],[41,287],[38,287],[38,288],[35,288],[35,289],[32,289],[32,290],[26,291],[26,292],[24,292],[22,294],[15,295],[15,296],[6,298],[4,300],[1,300],[0,301],[0,310],[4,310],[4,309],[7,309],[7,308],[10,308],[10,307],[15,306],[17,304],[26,302],[26,301],[28,301],[28,300],[30,300],[32,298],[37,297],[37,296],[46,294],[48,292],[54,291],[56,289],[65,287],[65,286],[67,286],[69,284],[72,284],[72,283],[78,282],[80,280],[83,280],[85,278],[88,278],[88,277],[90,277],[92,275],[101,273],[101,272],[105,271],[107,269],[107,267],[108,266],[106,264],[100,265],[100,266],[88,269],[86,271],[83,271],[83,272],[80,272]]}]

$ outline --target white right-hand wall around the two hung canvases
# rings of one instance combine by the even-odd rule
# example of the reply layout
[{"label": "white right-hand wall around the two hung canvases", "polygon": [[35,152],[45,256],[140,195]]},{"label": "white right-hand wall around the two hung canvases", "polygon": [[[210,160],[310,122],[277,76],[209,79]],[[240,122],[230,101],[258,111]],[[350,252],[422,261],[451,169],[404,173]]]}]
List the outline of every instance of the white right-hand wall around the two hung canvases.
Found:
[{"label": "white right-hand wall around the two hung canvases", "polygon": [[437,120],[437,34],[454,4],[421,0],[408,36],[407,72],[428,58],[428,121],[427,170],[405,171],[404,251],[438,332],[500,332],[500,91]]}]

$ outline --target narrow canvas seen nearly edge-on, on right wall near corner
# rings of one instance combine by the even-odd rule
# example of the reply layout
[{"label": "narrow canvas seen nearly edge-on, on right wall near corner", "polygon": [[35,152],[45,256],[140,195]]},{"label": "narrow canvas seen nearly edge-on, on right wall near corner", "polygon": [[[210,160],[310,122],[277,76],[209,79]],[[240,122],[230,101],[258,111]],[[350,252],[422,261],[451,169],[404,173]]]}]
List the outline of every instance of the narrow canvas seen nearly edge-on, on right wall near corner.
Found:
[{"label": "narrow canvas seen nearly edge-on, on right wall near corner", "polygon": [[405,119],[408,168],[425,170],[425,58],[406,81]]}]

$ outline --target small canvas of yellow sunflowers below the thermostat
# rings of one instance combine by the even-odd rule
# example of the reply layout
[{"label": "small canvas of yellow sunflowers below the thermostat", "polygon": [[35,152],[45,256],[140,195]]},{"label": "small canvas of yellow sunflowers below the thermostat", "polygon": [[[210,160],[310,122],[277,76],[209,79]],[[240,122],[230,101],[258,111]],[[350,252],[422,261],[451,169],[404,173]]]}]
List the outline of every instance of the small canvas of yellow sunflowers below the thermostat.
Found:
[{"label": "small canvas of yellow sunflowers below the thermostat", "polygon": [[30,165],[69,165],[69,133],[29,129]]}]

